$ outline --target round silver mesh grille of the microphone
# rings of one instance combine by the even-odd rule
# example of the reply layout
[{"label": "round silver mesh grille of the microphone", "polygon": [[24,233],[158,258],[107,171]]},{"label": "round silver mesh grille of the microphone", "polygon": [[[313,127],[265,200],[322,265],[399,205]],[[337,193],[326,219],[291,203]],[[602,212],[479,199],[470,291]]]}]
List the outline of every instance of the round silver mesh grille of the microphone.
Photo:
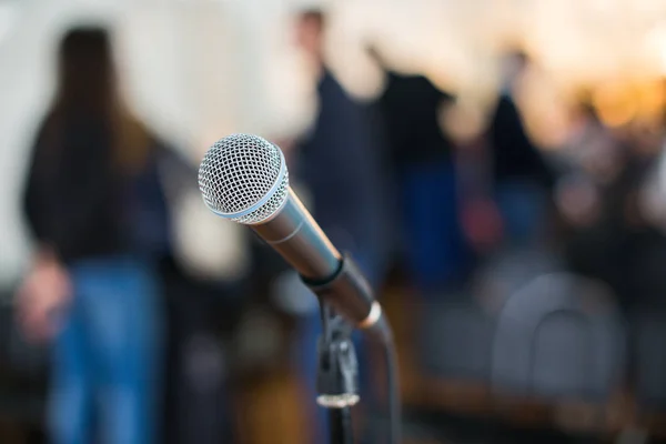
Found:
[{"label": "round silver mesh grille of the microphone", "polygon": [[220,139],[201,162],[199,189],[214,213],[243,224],[261,223],[287,198],[289,173],[282,151],[258,135]]}]

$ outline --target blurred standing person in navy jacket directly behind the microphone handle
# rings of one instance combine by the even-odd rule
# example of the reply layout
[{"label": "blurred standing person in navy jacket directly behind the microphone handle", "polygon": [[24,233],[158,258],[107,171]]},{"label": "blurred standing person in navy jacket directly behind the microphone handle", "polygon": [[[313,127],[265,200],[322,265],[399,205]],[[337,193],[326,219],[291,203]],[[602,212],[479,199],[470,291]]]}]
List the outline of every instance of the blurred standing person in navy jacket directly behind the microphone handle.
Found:
[{"label": "blurred standing person in navy jacket directly behind the microphone handle", "polygon": [[[296,176],[309,189],[313,215],[333,244],[350,252],[377,287],[383,279],[385,256],[380,152],[373,138],[370,109],[356,103],[326,67],[323,56],[325,27],[326,18],[320,10],[307,10],[297,17],[297,43],[319,75],[319,114],[313,130],[296,143]],[[316,398],[316,340],[320,332],[320,314],[312,305],[301,314],[297,344],[299,365],[312,403]],[[357,351],[363,357],[362,350]],[[361,365],[361,371],[364,366]],[[362,372],[363,390],[369,383]],[[365,404],[370,401],[365,400]],[[312,442],[327,442],[324,422],[325,415],[319,415],[316,436]]]}]

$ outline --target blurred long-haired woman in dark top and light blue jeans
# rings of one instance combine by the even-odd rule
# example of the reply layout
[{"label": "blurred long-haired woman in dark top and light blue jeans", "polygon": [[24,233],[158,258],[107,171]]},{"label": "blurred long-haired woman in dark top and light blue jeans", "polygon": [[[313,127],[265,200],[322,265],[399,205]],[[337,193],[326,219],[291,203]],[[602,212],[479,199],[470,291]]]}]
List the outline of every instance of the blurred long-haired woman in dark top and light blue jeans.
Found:
[{"label": "blurred long-haired woman in dark top and light blue jeans", "polygon": [[56,444],[157,441],[163,148],[120,98],[108,31],[68,31],[30,164],[24,212],[37,251],[18,295],[26,332],[54,340]]}]

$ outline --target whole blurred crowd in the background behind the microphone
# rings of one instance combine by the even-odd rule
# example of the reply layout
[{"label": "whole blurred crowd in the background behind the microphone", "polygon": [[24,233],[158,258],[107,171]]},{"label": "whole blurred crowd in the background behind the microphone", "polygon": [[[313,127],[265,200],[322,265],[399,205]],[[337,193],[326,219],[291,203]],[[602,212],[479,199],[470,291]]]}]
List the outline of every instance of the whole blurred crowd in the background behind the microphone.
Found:
[{"label": "whole blurred crowd in the background behind the microphone", "polygon": [[[538,60],[523,48],[502,54],[477,124],[454,91],[393,71],[372,42],[384,89],[350,95],[326,62],[325,13],[294,22],[319,105],[307,131],[275,142],[333,243],[380,297],[393,294],[392,320],[412,320],[420,374],[551,401],[629,392],[638,410],[665,407],[666,104],[609,125],[594,89],[577,91],[562,137],[542,147],[521,95]],[[111,40],[100,27],[62,37],[26,175],[34,251],[13,313],[26,350],[48,347],[48,436],[236,442],[241,387],[256,369],[286,366],[302,385],[306,442],[325,443],[316,299],[222,220],[203,242],[225,263],[183,260],[173,232],[196,163],[125,104]],[[374,406],[366,345],[359,339],[361,386]]]}]

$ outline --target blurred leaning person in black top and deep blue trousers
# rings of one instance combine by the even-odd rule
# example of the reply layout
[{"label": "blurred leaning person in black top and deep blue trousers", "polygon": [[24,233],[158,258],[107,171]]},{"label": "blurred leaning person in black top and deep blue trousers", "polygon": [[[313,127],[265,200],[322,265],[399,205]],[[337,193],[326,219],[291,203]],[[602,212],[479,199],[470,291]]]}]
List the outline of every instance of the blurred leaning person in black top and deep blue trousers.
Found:
[{"label": "blurred leaning person in black top and deep blue trousers", "polygon": [[427,78],[395,72],[380,99],[401,190],[406,266],[418,292],[435,300],[464,282],[472,259],[461,225],[454,143],[440,124],[441,109],[451,102]]}]

